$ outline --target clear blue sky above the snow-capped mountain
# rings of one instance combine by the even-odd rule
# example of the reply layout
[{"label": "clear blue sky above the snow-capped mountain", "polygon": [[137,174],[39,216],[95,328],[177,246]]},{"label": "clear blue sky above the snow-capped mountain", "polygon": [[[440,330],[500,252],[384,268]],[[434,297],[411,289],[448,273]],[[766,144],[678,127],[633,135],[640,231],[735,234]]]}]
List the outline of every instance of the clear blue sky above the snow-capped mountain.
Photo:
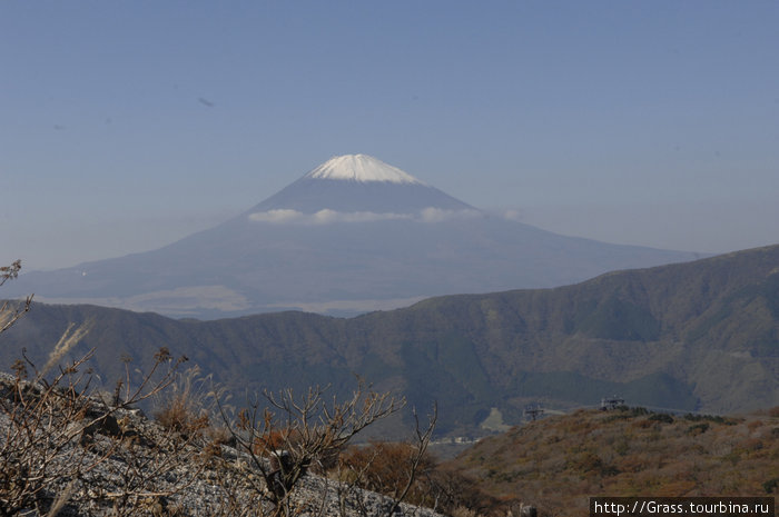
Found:
[{"label": "clear blue sky above the snow-capped mountain", "polygon": [[0,262],[70,266],[367,153],[565,235],[779,242],[776,1],[4,1]]}]

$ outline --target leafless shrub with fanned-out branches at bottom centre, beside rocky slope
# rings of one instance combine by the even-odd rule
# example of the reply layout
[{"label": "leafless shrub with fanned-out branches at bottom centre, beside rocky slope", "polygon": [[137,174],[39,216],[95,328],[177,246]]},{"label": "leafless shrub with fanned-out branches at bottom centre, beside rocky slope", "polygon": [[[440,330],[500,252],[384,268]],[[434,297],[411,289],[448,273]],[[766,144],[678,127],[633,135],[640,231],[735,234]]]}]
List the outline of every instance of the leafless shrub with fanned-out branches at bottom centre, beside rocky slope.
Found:
[{"label": "leafless shrub with fanned-out branches at bottom centre, beside rocky slope", "polygon": [[[265,392],[238,411],[234,420],[223,411],[225,421],[231,424],[229,429],[238,449],[252,463],[253,468],[246,469],[247,474],[260,474],[262,483],[247,485],[269,505],[274,516],[289,516],[304,509],[322,515],[324,508],[317,509],[316,505],[324,504],[323,497],[319,500],[294,497],[304,475],[312,469],[324,471],[335,465],[338,454],[352,438],[405,405],[404,399],[378,394],[362,381],[352,397],[343,401],[326,397],[326,388],[314,387],[303,396],[296,396],[289,389],[279,394]],[[395,511],[411,489],[434,426],[434,419],[424,431],[417,426],[417,454],[410,465],[406,484],[398,488],[386,508],[387,515]],[[250,474],[247,480],[252,481]],[[354,498],[356,489],[356,483],[337,483],[334,487],[342,513],[345,513],[348,497],[352,497],[349,504],[359,513],[361,500]]]}]

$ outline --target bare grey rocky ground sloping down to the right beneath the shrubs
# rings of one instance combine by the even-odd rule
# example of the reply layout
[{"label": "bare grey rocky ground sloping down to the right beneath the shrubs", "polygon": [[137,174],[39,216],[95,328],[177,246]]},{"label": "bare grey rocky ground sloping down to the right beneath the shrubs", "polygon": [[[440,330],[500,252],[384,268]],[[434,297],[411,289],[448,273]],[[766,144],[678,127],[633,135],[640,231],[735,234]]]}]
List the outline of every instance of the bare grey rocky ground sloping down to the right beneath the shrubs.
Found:
[{"label": "bare grey rocky ground sloping down to the right beneath the shrubs", "polygon": [[0,433],[2,516],[438,515],[314,474],[278,513],[256,460],[229,444],[7,374]]}]

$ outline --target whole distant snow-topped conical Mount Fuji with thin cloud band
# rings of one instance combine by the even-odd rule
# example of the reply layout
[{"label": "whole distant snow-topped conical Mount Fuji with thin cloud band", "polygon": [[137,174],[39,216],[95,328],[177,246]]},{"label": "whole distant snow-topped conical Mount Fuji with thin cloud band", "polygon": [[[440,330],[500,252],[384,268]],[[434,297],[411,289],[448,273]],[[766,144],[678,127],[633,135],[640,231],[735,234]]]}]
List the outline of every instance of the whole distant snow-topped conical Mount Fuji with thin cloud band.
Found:
[{"label": "whole distant snow-topped conical Mount Fuji with thin cloud band", "polygon": [[484,212],[376,158],[348,155],[215,228],[152,251],[26,274],[3,286],[3,296],[34,292],[40,301],[174,317],[347,315],[694,258],[555,235]]}]

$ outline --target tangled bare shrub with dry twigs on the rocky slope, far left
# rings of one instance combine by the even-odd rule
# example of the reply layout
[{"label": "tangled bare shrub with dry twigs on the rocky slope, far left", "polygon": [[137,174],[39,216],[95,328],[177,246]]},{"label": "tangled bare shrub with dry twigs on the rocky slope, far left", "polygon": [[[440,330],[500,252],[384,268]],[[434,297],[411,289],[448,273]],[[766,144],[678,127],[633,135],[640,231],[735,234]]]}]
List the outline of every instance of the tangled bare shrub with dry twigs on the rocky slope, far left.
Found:
[{"label": "tangled bare shrub with dry twigs on the rocky slope, far left", "polygon": [[[180,439],[144,437],[120,418],[170,384],[180,361],[172,361],[167,350],[157,354],[140,386],[125,385],[126,397],[114,404],[95,396],[86,369],[93,349],[47,375],[88,330],[88,324],[69,327],[42,369],[24,356],[14,365],[16,376],[0,382],[1,516],[45,515],[68,501],[108,504],[115,515],[130,515],[157,493],[157,477],[181,465],[180,457],[170,455],[181,450]],[[139,454],[142,439],[154,440],[148,448],[154,455]]]}]

